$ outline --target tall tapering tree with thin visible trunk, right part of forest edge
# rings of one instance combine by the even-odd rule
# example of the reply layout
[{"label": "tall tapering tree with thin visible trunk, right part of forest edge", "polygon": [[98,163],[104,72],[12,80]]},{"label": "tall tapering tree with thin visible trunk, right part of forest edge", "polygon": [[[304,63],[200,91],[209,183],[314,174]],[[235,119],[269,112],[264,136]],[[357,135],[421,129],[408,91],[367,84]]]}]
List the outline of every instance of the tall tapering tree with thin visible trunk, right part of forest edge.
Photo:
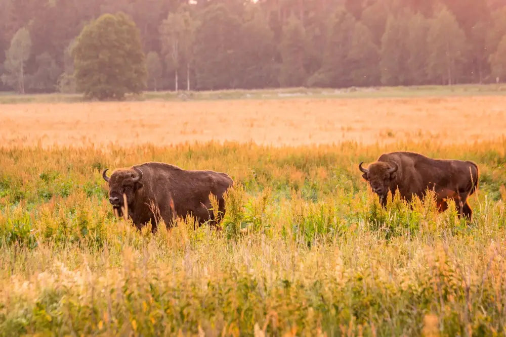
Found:
[{"label": "tall tapering tree with thin visible trunk, right part of forest edge", "polygon": [[466,35],[447,8],[442,7],[431,20],[427,41],[431,47],[428,58],[430,78],[450,85],[455,83],[465,61]]}]

